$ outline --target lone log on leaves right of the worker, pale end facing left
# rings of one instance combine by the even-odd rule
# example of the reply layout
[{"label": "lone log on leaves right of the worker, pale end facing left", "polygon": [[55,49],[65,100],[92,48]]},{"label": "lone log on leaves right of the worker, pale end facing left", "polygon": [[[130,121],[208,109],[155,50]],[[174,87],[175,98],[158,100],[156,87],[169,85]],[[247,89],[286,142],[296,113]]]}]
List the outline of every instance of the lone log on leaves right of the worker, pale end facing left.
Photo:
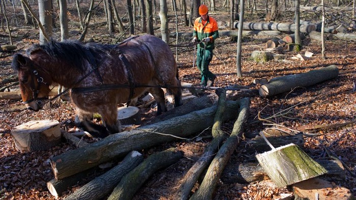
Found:
[{"label": "lone log on leaves right of the worker, pale end facing left", "polygon": [[272,97],[277,94],[289,92],[299,87],[310,85],[337,77],[339,69],[336,65],[311,70],[306,73],[293,74],[273,78],[268,84],[261,85],[259,95],[261,97]]}]

